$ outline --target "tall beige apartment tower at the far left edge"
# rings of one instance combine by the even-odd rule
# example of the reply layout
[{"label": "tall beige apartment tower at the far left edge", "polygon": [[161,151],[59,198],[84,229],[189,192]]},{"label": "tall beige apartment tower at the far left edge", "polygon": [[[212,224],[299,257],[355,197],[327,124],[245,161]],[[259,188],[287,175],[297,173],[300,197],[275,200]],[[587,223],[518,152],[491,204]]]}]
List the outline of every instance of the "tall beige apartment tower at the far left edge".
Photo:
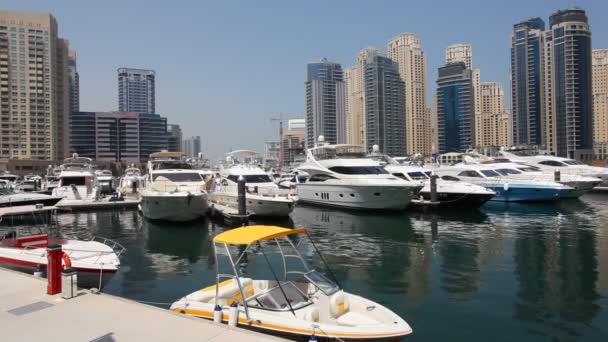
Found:
[{"label": "tall beige apartment tower at the far left edge", "polygon": [[0,11],[0,159],[69,149],[68,42],[49,13]]}]

